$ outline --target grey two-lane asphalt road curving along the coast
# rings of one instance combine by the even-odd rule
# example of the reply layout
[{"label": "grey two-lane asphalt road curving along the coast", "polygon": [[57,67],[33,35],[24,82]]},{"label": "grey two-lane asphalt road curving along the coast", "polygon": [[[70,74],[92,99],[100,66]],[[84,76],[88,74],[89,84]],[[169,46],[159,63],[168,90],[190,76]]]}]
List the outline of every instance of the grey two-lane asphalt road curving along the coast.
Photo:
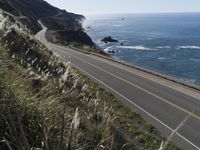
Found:
[{"label": "grey two-lane asphalt road curving along the coast", "polygon": [[36,38],[141,114],[165,137],[191,115],[173,141],[182,149],[200,150],[200,91],[108,59],[48,43],[45,31],[44,28]]}]

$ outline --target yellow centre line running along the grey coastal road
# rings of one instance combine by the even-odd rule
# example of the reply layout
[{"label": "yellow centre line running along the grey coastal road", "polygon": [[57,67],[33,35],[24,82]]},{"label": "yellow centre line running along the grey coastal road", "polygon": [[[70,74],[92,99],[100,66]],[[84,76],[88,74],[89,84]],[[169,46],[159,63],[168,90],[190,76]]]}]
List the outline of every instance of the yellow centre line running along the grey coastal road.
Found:
[{"label": "yellow centre line running along the grey coastal road", "polygon": [[[72,55],[72,54],[70,54],[70,55]],[[182,111],[182,112],[184,112],[184,113],[186,113],[186,114],[191,114],[191,112],[188,111],[188,110],[186,110],[185,108],[183,108],[183,107],[181,107],[181,106],[178,106],[178,105],[176,105],[176,104],[170,102],[169,100],[167,100],[167,99],[165,99],[165,98],[162,98],[162,97],[160,97],[160,96],[158,96],[158,95],[156,95],[156,94],[154,94],[154,93],[152,93],[152,92],[150,92],[150,91],[148,91],[148,90],[142,88],[141,86],[138,86],[138,85],[136,85],[136,84],[134,84],[134,83],[131,83],[131,82],[129,82],[129,81],[127,81],[127,80],[125,80],[125,79],[123,79],[123,78],[121,78],[121,77],[119,77],[119,76],[116,76],[116,75],[112,74],[111,72],[108,72],[108,71],[106,71],[106,70],[104,70],[104,69],[102,69],[102,68],[100,68],[100,67],[98,67],[98,66],[96,66],[96,65],[93,65],[93,64],[91,64],[91,63],[89,63],[89,62],[87,62],[87,61],[85,61],[85,60],[83,60],[83,59],[81,59],[81,58],[78,58],[78,57],[76,57],[76,56],[74,56],[74,55],[72,55],[72,56],[75,57],[75,58],[77,58],[77,59],[79,59],[79,60],[81,60],[81,61],[83,61],[83,62],[85,62],[85,63],[87,63],[87,64],[89,64],[89,65],[91,65],[91,66],[93,66],[93,67],[95,67],[95,68],[97,68],[97,69],[99,69],[99,70],[101,70],[101,71],[103,71],[103,72],[105,72],[105,73],[107,73],[107,74],[109,74],[109,75],[111,75],[111,76],[113,76],[113,77],[115,77],[115,78],[117,78],[117,79],[119,79],[119,80],[121,80],[121,81],[124,81],[124,82],[126,82],[126,83],[128,83],[128,84],[130,84],[130,85],[132,85],[132,86],[134,86],[134,87],[136,87],[136,88],[142,90],[143,92],[145,92],[145,93],[147,93],[147,94],[149,94],[149,95],[151,95],[151,96],[153,96],[153,97],[156,97],[156,98],[159,99],[160,101],[163,101],[163,102],[165,102],[165,103],[167,103],[167,104],[173,106],[174,108],[176,108],[176,109],[178,109],[178,110],[180,110],[180,111]],[[195,114],[193,114],[193,113],[192,113],[191,116],[192,116],[193,118],[195,118],[195,119],[197,119],[197,120],[200,121],[200,116],[195,115]]]}]

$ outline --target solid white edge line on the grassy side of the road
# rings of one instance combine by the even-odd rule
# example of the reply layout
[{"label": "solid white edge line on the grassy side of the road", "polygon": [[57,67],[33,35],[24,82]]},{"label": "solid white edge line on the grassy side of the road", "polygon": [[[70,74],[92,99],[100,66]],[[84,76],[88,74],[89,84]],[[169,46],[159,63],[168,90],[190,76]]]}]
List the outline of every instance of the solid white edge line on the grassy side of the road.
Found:
[{"label": "solid white edge line on the grassy side of the road", "polygon": [[[162,124],[163,126],[165,126],[166,128],[168,128],[170,131],[174,131],[172,128],[170,128],[168,125],[166,125],[165,123],[163,123],[161,120],[159,120],[158,118],[156,118],[155,116],[153,116],[152,114],[150,114],[148,111],[144,110],[143,108],[141,108],[140,106],[138,106],[136,103],[134,103],[133,101],[131,101],[130,99],[128,99],[127,97],[125,97],[124,95],[120,94],[119,92],[117,92],[116,90],[114,90],[113,88],[111,88],[109,85],[107,85],[106,83],[98,80],[96,77],[94,77],[93,75],[91,75],[90,73],[86,72],[85,70],[81,69],[80,67],[78,67],[77,65],[73,64],[75,67],[77,67],[79,70],[81,70],[82,72],[85,72],[86,74],[88,74],[89,76],[91,76],[92,78],[94,78],[96,81],[98,81],[99,83],[101,83],[102,85],[106,86],[107,88],[111,89],[113,92],[115,92],[116,94],[118,94],[120,97],[124,98],[125,100],[127,100],[129,103],[135,105],[138,109],[140,109],[141,111],[143,111],[144,113],[146,113],[147,115],[149,115],[150,117],[152,117],[154,120],[156,120],[157,122],[159,122],[160,124]],[[188,142],[189,144],[191,144],[193,147],[195,147],[196,149],[200,150],[200,148],[193,144],[191,141],[189,141],[187,138],[185,138],[184,136],[182,136],[179,133],[176,133],[176,135],[178,135],[180,138],[182,138],[183,140],[185,140],[186,142]]]}]

